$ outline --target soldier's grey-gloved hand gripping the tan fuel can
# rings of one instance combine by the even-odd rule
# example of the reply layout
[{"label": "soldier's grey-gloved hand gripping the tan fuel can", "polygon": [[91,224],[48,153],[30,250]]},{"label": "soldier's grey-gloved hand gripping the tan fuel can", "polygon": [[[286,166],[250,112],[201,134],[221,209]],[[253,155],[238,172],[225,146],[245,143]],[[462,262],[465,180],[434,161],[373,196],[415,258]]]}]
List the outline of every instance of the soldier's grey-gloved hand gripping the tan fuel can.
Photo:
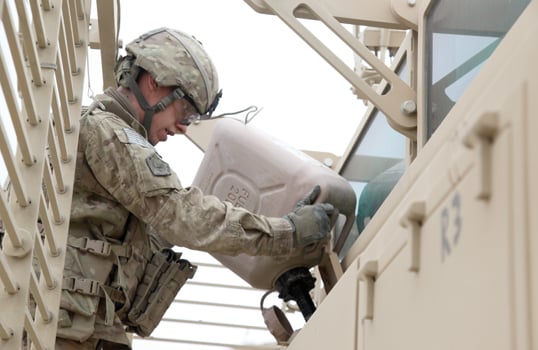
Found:
[{"label": "soldier's grey-gloved hand gripping the tan fuel can", "polygon": [[331,215],[334,207],[329,203],[311,204],[320,193],[316,186],[301,201],[294,211],[284,216],[293,228],[295,249],[308,247],[319,241],[328,241],[331,231]]}]

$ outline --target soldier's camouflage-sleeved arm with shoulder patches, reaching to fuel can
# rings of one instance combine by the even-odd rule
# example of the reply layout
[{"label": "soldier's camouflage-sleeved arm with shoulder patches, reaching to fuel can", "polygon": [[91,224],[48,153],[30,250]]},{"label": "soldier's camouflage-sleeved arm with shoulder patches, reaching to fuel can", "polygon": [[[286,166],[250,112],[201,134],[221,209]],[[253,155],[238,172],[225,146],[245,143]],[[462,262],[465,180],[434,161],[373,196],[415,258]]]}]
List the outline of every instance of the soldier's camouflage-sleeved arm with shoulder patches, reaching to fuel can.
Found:
[{"label": "soldier's camouflage-sleeved arm with shoulder patches, reaching to fuel can", "polygon": [[[282,218],[255,215],[196,188],[177,175],[148,143],[101,123],[85,150],[100,184],[125,208],[178,246],[221,254],[284,255],[292,227]],[[132,132],[132,131],[131,131]]]}]

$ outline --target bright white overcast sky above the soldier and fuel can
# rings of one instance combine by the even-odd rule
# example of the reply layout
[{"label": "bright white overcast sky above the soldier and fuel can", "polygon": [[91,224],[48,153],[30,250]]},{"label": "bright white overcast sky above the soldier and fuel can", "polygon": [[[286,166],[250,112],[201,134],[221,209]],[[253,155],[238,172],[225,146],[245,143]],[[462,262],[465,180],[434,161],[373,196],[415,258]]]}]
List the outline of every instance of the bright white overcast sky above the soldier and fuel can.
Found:
[{"label": "bright white overcast sky above the soldier and fuel can", "polygon": [[[121,1],[124,45],[162,26],[194,35],[211,56],[223,90],[216,114],[256,105],[262,111],[252,124],[284,142],[299,149],[344,152],[364,105],[350,84],[279,18],[259,14],[242,0]],[[317,32],[331,39],[328,31]],[[332,45],[351,66],[351,51]],[[92,77],[95,93],[101,90],[99,79]],[[183,136],[169,138],[158,150],[183,185],[189,185],[196,166],[185,162],[197,164],[202,154]]]}]

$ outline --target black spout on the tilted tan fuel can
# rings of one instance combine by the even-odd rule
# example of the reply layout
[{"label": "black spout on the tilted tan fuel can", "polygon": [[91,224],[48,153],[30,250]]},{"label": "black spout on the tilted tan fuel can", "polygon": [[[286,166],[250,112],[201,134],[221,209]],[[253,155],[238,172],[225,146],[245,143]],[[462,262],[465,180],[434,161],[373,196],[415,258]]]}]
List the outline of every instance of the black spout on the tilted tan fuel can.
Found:
[{"label": "black spout on the tilted tan fuel can", "polygon": [[307,268],[297,267],[284,272],[276,281],[278,297],[284,301],[293,300],[299,306],[306,321],[316,311],[316,306],[310,296],[316,279]]}]

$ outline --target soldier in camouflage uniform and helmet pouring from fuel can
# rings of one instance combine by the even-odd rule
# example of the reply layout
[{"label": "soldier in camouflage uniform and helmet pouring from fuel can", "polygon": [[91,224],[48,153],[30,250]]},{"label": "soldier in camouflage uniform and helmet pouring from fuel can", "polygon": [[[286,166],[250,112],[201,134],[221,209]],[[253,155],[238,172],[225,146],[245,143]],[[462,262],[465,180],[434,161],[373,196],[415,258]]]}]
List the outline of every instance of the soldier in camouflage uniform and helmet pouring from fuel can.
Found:
[{"label": "soldier in camouflage uniform and helmet pouring from fuel can", "polygon": [[319,188],[283,218],[183,188],[153,146],[211,117],[221,97],[215,67],[196,39],[168,28],[126,51],[119,87],[97,96],[80,122],[56,349],[128,349],[126,330],[151,333],[194,273],[152,242],[286,256],[329,240],[333,208],[312,204]]}]

